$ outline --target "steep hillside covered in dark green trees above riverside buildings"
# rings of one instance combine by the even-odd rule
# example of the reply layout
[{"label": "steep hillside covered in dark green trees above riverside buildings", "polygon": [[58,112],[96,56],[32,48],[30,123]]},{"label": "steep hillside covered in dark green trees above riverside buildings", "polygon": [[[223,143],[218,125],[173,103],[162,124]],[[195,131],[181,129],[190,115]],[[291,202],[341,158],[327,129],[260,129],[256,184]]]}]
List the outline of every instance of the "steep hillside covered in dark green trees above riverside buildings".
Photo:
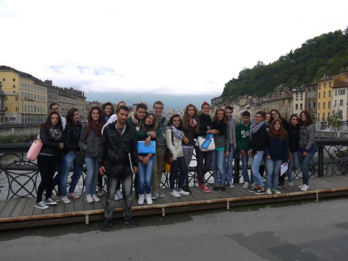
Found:
[{"label": "steep hillside covered in dark green trees above riverside buildings", "polygon": [[280,84],[295,87],[318,80],[324,73],[337,75],[347,66],[348,27],[309,39],[272,63],[258,61],[252,69],[243,69],[237,79],[225,84],[222,96],[235,98],[250,93],[261,96]]}]

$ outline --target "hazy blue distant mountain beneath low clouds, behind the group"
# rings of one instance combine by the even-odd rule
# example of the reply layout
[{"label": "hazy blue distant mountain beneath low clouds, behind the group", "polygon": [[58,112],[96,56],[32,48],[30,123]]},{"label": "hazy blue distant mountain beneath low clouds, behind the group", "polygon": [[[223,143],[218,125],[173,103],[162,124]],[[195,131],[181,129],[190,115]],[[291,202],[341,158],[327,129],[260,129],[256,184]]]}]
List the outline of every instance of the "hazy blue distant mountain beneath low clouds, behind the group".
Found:
[{"label": "hazy blue distant mountain beneath low clouds, behind the group", "polygon": [[[219,94],[217,94],[219,95]],[[216,96],[217,96],[216,95]],[[127,105],[132,105],[138,101],[147,102],[150,106],[153,105],[155,101],[162,101],[164,103],[164,109],[172,108],[177,110],[184,110],[185,106],[192,103],[200,110],[200,105],[206,101],[211,102],[214,97],[212,95],[164,95],[164,94],[149,94],[136,97],[136,93],[95,93],[95,92],[85,92],[87,101],[98,101],[98,102],[112,102],[118,103],[119,101],[125,101]],[[133,98],[135,97],[135,99]]]}]

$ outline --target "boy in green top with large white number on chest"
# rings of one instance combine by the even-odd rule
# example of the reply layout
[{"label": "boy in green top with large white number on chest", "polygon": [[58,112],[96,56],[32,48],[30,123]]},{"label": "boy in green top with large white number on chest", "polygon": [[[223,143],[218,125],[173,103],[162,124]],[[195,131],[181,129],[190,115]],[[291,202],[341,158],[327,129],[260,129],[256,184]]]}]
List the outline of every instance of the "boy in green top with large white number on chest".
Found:
[{"label": "boy in green top with large white number on chest", "polygon": [[253,183],[253,175],[251,175],[251,180],[248,175],[248,147],[250,142],[250,112],[244,111],[241,114],[242,121],[236,127],[236,141],[237,147],[240,153],[241,165],[243,171],[243,188],[249,188],[250,181]]}]

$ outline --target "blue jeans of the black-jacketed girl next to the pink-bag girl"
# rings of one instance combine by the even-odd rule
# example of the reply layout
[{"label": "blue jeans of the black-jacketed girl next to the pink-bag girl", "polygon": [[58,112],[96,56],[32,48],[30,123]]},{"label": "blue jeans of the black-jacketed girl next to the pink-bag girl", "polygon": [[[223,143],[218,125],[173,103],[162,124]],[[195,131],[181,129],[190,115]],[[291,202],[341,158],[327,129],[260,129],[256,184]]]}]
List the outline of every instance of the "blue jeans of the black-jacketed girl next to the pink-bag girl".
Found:
[{"label": "blue jeans of the black-jacketed girl next to the pink-bag girl", "polygon": [[74,152],[69,152],[66,155],[63,154],[62,169],[60,174],[60,194],[66,196],[66,182],[69,176],[72,166],[74,166],[74,174],[72,176],[72,181],[70,182],[69,192],[73,193],[79,179],[82,175],[82,165],[76,162],[77,154]]}]

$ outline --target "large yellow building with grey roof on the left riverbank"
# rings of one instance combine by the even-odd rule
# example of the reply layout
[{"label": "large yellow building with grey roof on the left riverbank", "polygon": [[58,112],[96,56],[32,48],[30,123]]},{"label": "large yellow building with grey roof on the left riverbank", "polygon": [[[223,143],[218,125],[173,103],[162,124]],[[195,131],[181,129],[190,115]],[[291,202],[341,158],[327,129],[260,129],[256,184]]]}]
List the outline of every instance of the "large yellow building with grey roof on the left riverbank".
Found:
[{"label": "large yellow building with grey roof on the left riverbank", "polygon": [[30,74],[0,66],[6,94],[4,122],[43,122],[47,115],[47,86]]}]

